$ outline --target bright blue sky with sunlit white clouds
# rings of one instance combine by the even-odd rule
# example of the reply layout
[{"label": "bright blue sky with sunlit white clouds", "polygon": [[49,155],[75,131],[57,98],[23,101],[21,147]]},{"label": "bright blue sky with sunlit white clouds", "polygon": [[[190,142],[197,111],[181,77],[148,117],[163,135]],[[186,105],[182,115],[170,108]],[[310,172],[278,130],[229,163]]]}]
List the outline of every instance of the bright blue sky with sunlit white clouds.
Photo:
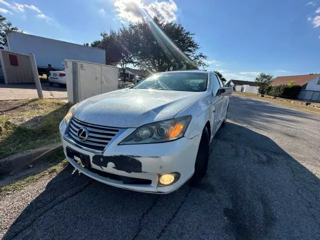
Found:
[{"label": "bright blue sky with sunlit white clouds", "polygon": [[139,20],[137,7],[193,32],[227,79],[320,72],[320,0],[0,0],[19,29],[79,44]]}]

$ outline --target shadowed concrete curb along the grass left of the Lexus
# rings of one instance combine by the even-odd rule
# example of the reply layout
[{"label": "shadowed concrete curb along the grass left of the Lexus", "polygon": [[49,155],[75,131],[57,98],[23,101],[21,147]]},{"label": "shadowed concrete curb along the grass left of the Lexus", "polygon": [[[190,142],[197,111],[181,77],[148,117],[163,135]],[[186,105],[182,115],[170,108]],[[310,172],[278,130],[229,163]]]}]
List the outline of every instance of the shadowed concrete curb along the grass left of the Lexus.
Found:
[{"label": "shadowed concrete curb along the grass left of the Lexus", "polygon": [[55,142],[4,157],[0,159],[0,175],[20,169],[37,159],[45,158],[52,150],[55,150],[60,146],[60,142]]}]

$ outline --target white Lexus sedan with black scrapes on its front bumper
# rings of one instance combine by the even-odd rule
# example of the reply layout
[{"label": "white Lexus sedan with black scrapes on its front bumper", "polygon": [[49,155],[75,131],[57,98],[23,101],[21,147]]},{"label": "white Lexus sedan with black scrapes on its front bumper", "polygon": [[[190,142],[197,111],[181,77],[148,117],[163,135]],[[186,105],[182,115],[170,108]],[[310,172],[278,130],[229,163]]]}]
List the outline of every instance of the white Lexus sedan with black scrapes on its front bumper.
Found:
[{"label": "white Lexus sedan with black scrapes on its front bumper", "polygon": [[214,72],[161,72],[73,105],[59,125],[68,161],[100,182],[169,193],[206,172],[231,87]]}]

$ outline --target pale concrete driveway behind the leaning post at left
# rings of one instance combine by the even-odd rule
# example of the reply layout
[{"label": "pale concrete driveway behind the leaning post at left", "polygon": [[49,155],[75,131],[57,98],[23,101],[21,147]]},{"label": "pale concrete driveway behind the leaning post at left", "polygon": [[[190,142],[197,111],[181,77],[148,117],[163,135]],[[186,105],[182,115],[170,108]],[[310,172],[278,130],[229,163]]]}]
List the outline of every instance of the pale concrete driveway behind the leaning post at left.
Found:
[{"label": "pale concrete driveway behind the leaning post at left", "polygon": [[[66,88],[42,83],[44,98],[67,97]],[[37,98],[35,84],[0,84],[0,100]]]}]

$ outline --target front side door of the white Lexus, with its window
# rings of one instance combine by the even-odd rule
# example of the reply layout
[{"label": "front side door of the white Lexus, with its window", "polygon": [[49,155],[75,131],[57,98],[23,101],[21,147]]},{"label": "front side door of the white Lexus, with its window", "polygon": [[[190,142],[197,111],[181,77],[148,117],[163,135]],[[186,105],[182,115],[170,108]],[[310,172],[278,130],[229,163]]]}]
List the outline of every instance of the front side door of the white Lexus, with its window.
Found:
[{"label": "front side door of the white Lexus, with its window", "polygon": [[[220,126],[221,123],[221,114],[223,110],[223,97],[217,96],[216,92],[220,87],[219,80],[215,74],[212,74],[212,102],[214,102],[214,124],[213,124],[213,133],[215,133],[216,129]],[[223,117],[223,116],[222,116]],[[212,134],[214,135],[214,134]]]}]

